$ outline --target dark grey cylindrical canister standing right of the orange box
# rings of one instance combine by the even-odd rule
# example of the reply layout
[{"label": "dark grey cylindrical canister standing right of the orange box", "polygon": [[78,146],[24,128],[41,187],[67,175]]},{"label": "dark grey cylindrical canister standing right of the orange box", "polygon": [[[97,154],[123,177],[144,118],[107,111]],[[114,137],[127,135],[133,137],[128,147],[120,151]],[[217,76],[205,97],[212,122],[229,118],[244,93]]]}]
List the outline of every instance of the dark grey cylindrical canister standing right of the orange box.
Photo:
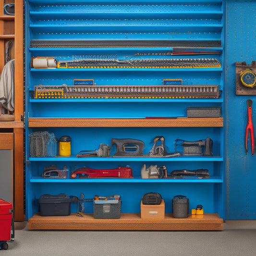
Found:
[{"label": "dark grey cylindrical canister standing right of the orange box", "polygon": [[174,218],[188,217],[189,199],[184,195],[175,195],[172,199],[172,212]]}]

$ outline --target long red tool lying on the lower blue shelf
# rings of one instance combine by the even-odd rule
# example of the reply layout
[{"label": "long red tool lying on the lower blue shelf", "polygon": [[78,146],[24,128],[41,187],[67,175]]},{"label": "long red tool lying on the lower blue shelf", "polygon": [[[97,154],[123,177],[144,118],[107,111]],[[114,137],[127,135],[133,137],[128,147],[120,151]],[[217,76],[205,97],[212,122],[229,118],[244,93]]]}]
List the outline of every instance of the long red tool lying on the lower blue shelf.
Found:
[{"label": "long red tool lying on the lower blue shelf", "polygon": [[82,167],[73,171],[71,178],[74,179],[77,174],[80,174],[80,178],[133,178],[131,167],[119,167],[114,169],[92,169],[89,167]]}]

